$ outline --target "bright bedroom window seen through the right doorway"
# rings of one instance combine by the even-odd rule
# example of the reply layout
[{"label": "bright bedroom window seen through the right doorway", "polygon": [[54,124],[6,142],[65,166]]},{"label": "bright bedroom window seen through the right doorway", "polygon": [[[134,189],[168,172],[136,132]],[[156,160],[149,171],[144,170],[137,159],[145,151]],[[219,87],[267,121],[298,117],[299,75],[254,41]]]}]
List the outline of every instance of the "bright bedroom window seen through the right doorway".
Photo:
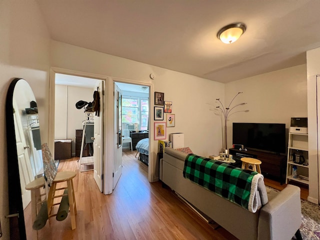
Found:
[{"label": "bright bedroom window seen through the right doorway", "polygon": [[122,96],[122,123],[135,123],[139,130],[148,129],[149,100]]}]

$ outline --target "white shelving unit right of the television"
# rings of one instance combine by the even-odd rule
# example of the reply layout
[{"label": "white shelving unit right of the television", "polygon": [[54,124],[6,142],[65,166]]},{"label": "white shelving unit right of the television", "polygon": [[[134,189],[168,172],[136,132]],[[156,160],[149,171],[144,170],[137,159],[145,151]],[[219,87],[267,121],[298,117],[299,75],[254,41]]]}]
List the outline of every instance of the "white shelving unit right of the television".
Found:
[{"label": "white shelving unit right of the television", "polygon": [[[303,156],[304,163],[296,163],[293,159],[293,154]],[[293,166],[297,168],[297,178],[292,176]],[[289,132],[288,138],[288,155],[286,164],[285,183],[290,180],[309,184],[309,164],[308,164],[308,134]]]}]

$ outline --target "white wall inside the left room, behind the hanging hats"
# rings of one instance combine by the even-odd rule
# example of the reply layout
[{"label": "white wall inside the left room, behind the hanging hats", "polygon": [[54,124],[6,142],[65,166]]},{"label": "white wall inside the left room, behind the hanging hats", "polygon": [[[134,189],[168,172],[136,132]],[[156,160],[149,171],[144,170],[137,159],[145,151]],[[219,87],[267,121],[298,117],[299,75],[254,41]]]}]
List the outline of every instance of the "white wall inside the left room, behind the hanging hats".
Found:
[{"label": "white wall inside the left room, behind the hanging hats", "polygon": [[91,102],[93,88],[55,85],[54,139],[72,139],[72,153],[75,153],[75,129],[82,129],[84,110],[77,109],[79,100]]}]

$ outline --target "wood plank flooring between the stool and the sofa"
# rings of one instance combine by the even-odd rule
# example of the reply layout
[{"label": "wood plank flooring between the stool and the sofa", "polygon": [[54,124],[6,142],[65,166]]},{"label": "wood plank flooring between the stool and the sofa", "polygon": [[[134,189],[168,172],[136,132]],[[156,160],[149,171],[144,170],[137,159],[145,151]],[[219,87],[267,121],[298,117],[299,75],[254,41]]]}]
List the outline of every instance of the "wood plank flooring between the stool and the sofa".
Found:
[{"label": "wood plank flooring between the stool and the sofa", "polygon": [[78,157],[60,160],[58,171],[77,173],[76,229],[71,230],[69,216],[51,217],[38,239],[237,239],[222,227],[213,229],[161,182],[148,182],[148,168],[135,153],[123,150],[122,175],[109,195],[99,192],[93,171],[78,171]]}]

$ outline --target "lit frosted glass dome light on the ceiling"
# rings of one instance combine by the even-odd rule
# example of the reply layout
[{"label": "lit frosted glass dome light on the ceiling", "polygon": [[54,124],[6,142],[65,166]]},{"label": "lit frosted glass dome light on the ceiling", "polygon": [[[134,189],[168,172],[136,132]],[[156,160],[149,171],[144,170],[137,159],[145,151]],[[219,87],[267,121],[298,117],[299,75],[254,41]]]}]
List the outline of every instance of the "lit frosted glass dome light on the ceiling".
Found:
[{"label": "lit frosted glass dome light on the ceiling", "polygon": [[219,38],[224,43],[235,42],[245,31],[246,26],[244,23],[236,22],[229,25],[223,26],[216,37]]}]

